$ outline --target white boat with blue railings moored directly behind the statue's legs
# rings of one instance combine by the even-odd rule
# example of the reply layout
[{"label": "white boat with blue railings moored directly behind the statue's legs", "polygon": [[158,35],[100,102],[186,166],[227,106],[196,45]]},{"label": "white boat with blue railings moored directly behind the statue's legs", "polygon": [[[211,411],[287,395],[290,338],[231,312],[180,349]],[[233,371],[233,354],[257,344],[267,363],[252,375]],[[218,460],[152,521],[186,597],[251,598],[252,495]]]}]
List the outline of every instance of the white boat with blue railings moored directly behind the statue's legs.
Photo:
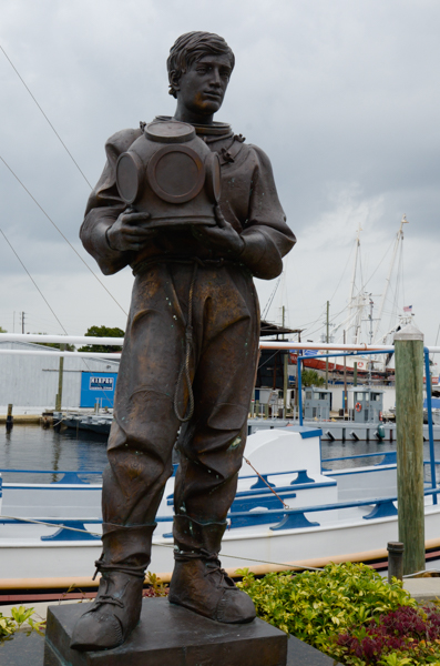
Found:
[{"label": "white boat with blue railings moored directly behind the statue's legs", "polygon": [[[294,563],[385,558],[387,543],[398,539],[396,460],[324,471],[320,434],[294,426],[248,437],[252,467],[244,462],[228,514],[221,553],[225,568],[280,571]],[[3,483],[1,588],[23,587],[25,581],[39,588],[57,587],[57,579],[90,582],[101,553],[101,485],[74,483],[72,476],[62,481]],[[158,509],[150,566],[163,579],[173,569],[173,486],[174,477]],[[426,539],[431,548],[440,545],[440,505],[433,496],[437,490],[427,486]]]}]

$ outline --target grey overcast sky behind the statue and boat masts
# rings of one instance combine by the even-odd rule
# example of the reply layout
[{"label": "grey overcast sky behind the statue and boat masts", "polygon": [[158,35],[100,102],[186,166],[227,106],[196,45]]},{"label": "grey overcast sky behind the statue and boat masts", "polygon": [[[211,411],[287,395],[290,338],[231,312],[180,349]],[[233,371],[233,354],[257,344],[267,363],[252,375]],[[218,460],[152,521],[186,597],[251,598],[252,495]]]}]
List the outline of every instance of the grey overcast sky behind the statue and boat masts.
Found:
[{"label": "grey overcast sky behind the statue and boat masts", "polygon": [[[362,272],[379,304],[405,213],[402,279],[390,297],[412,305],[434,344],[439,297],[440,3],[434,0],[0,0],[0,46],[94,184],[104,142],[173,114],[166,58],[190,30],[222,34],[236,67],[217,120],[268,153],[298,242],[268,319],[323,333],[344,317],[360,233]],[[0,50],[0,155],[89,266],[78,238],[90,186]],[[86,270],[0,161],[0,229],[62,326],[125,327],[130,269]],[[380,265],[379,265],[380,264]],[[379,268],[378,268],[379,266]],[[0,234],[0,325],[61,333]],[[371,276],[372,275],[372,276]],[[275,282],[257,281],[262,310]],[[341,313],[339,315],[339,313]]]}]

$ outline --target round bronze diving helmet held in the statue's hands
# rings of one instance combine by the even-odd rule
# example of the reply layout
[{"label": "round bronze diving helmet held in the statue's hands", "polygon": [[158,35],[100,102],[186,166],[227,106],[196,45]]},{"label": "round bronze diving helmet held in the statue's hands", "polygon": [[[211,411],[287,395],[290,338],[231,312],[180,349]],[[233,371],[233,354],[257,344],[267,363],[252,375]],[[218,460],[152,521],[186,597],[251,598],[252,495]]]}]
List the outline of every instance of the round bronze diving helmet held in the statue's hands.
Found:
[{"label": "round bronze diving helmet held in the statue's hands", "polygon": [[134,212],[150,214],[149,225],[216,224],[221,195],[218,154],[193,125],[154,121],[116,162],[116,185]]}]

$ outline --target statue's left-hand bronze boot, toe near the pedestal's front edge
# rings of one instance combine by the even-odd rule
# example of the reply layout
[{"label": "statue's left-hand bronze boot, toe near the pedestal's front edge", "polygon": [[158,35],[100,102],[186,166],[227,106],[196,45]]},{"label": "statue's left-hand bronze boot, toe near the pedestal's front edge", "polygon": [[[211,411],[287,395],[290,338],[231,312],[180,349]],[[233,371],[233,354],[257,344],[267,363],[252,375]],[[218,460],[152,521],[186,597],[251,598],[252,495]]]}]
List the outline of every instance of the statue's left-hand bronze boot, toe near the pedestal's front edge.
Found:
[{"label": "statue's left-hand bronze boot, toe near the pedestal's front edge", "polygon": [[95,563],[96,572],[102,574],[100,587],[91,608],[76,622],[71,648],[85,652],[117,647],[139,624],[154,527],[103,524],[104,549]]}]

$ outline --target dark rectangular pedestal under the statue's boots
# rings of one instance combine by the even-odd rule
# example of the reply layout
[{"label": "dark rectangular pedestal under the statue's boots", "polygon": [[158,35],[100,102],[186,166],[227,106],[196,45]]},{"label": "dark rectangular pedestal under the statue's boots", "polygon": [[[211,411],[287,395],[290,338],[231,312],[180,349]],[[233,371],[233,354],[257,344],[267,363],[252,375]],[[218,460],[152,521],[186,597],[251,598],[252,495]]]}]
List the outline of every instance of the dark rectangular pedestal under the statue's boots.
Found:
[{"label": "dark rectangular pedestal under the statue's boots", "polygon": [[166,598],[145,598],[141,622],[129,639],[111,650],[70,649],[76,619],[86,604],[50,606],[47,666],[285,666],[288,637],[260,619],[225,625],[196,615]]}]

